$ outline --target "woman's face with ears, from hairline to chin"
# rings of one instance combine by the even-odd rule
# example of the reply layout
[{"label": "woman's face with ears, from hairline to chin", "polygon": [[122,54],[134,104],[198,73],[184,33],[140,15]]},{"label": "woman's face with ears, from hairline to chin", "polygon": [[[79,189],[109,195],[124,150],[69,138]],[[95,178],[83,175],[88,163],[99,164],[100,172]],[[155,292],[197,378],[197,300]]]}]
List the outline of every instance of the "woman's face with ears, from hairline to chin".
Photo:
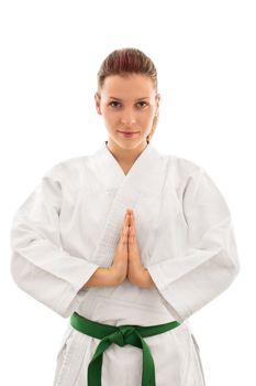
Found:
[{"label": "woman's face with ears, from hairline to chin", "polygon": [[146,137],[158,112],[160,99],[159,94],[156,96],[148,76],[108,76],[100,98],[96,93],[94,99],[97,111],[103,117],[110,144],[122,149],[147,144]]}]

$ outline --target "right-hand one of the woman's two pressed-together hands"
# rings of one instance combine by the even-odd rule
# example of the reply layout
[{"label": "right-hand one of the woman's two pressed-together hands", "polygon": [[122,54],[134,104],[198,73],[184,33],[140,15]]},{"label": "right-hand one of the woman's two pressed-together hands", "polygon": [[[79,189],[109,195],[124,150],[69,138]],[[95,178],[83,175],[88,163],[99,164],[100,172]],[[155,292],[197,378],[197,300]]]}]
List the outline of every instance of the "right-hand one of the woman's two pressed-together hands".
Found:
[{"label": "right-hand one of the woman's two pressed-together hands", "polygon": [[141,253],[137,245],[135,217],[132,210],[127,210],[129,213],[129,264],[127,264],[127,279],[137,287],[152,288],[155,287],[148,270],[142,265]]}]

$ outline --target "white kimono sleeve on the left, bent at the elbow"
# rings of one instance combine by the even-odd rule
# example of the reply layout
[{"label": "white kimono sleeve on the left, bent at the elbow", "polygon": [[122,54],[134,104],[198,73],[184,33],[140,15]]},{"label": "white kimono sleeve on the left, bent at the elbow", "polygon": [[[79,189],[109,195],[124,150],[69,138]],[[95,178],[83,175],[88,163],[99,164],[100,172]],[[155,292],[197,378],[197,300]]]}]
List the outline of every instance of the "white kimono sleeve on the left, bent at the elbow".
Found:
[{"label": "white kimono sleeve on the left, bent at the elbow", "polygon": [[62,181],[46,173],[14,215],[11,274],[20,289],[68,318],[85,297],[82,286],[98,266],[63,250],[60,210]]}]

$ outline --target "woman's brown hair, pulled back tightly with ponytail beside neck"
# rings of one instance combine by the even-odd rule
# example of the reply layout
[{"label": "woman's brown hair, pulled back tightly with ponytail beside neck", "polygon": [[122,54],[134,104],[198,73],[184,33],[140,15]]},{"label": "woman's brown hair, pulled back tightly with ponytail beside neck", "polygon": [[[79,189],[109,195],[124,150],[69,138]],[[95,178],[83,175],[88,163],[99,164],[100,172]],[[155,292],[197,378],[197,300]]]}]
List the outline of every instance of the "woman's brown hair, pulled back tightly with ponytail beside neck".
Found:
[{"label": "woman's brown hair, pulled back tightly with ponytail beside neck", "polygon": [[[131,74],[142,74],[149,76],[153,81],[153,86],[157,96],[157,71],[152,60],[137,49],[121,49],[111,52],[102,62],[98,76],[98,95],[103,87],[104,79],[110,75],[130,76]],[[158,114],[154,117],[153,126],[147,136],[147,143],[153,137],[153,133],[158,124]]]}]

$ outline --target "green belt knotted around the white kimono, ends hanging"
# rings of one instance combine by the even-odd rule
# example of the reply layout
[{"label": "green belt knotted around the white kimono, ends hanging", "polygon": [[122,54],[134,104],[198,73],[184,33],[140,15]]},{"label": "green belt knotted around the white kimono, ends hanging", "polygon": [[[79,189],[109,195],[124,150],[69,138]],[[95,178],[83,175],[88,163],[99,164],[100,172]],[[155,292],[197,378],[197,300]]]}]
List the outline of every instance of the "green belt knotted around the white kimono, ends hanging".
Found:
[{"label": "green belt knotted around the white kimono, ends hanging", "polygon": [[70,324],[74,329],[92,337],[97,337],[100,343],[92,356],[88,366],[88,386],[101,386],[101,367],[103,352],[115,343],[120,347],[125,344],[131,344],[143,350],[143,373],[142,386],[155,386],[155,366],[151,350],[143,337],[162,334],[163,332],[172,330],[181,323],[172,321],[165,324],[157,325],[110,325],[93,322],[85,317],[74,312],[70,317]]}]

